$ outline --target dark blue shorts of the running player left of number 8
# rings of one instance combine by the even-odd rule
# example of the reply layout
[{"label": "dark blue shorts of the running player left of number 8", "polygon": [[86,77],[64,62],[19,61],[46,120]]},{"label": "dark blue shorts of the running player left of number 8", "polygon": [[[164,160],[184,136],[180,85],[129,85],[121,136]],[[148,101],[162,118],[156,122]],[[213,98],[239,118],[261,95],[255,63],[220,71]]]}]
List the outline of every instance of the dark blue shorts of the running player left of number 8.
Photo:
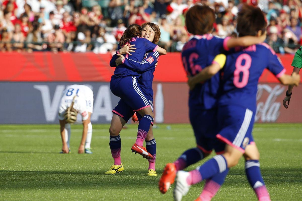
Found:
[{"label": "dark blue shorts of the running player left of number 8", "polygon": [[216,138],[217,109],[190,108],[190,122],[192,124],[197,147],[204,153],[211,153],[214,149],[217,154],[224,152],[225,143]]}]

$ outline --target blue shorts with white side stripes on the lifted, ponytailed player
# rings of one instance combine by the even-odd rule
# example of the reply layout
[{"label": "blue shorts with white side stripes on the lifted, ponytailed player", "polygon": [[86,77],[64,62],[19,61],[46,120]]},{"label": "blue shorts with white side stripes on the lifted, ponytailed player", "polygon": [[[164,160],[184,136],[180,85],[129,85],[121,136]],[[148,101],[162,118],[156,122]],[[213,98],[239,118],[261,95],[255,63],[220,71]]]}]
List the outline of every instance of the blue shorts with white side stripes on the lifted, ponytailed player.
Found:
[{"label": "blue shorts with white side stripes on the lifted, ponytailed player", "polygon": [[135,76],[118,78],[112,76],[110,89],[115,96],[120,97],[120,99],[133,108],[134,111],[151,107],[149,100],[146,99],[140,86],[137,85],[137,78]]}]

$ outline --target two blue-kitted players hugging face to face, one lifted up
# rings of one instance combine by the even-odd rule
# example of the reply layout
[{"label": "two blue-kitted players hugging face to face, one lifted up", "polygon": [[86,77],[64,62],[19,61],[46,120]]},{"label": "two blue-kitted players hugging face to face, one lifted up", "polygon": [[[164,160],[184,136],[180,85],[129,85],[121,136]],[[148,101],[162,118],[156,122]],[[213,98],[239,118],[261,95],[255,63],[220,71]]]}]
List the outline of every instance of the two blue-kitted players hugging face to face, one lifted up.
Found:
[{"label": "two blue-kitted players hugging face to face, one lifted up", "polygon": [[[124,170],[120,158],[120,131],[136,111],[140,123],[137,140],[131,150],[148,159],[148,176],[157,175],[156,141],[152,132],[154,118],[152,81],[159,55],[166,54],[165,49],[156,45],[159,38],[160,30],[156,24],[145,23],[142,29],[137,24],[130,25],[121,37],[119,50],[110,61],[111,67],[116,66],[110,81],[111,92],[121,99],[112,110],[114,115],[109,128],[109,146],[114,165],[105,174],[115,174]],[[121,46],[123,48],[120,49]],[[146,140],[146,148],[143,146],[143,140]]]}]

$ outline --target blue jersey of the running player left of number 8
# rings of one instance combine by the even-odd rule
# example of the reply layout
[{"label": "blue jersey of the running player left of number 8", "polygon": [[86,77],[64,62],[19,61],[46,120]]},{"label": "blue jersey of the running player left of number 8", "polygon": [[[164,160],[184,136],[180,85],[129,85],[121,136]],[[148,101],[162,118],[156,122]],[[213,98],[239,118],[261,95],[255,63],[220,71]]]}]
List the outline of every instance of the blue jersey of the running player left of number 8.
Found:
[{"label": "blue jersey of the running player left of number 8", "polygon": [[[194,76],[209,66],[215,56],[223,49],[228,50],[226,41],[210,34],[192,36],[182,49],[182,63],[187,75]],[[219,74],[204,83],[199,83],[190,91],[189,106],[200,109],[211,109],[217,106]]]}]

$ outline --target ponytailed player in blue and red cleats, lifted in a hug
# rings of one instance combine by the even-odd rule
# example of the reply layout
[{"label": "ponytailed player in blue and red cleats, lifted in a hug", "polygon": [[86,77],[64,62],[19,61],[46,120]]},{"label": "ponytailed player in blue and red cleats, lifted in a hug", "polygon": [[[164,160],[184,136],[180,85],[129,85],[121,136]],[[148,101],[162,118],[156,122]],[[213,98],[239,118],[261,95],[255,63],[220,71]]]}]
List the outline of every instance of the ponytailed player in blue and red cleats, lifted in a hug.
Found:
[{"label": "ponytailed player in blue and red cleats, lifted in a hug", "polygon": [[[166,54],[165,49],[140,37],[140,26],[137,24],[130,25],[121,37],[120,46],[126,43],[135,45],[137,48],[136,52],[133,52],[132,55],[125,55],[125,58],[129,60],[142,61],[145,53],[149,51]],[[154,115],[150,103],[137,84],[137,78],[140,77],[140,72],[127,68],[127,66],[123,64],[124,61],[115,68],[114,75],[110,81],[110,89],[114,95],[119,96],[127,105],[143,117],[138,125],[137,140],[131,150],[134,153],[139,153],[144,158],[152,159],[152,154],[148,153],[143,146],[143,140],[146,138]]]}]

